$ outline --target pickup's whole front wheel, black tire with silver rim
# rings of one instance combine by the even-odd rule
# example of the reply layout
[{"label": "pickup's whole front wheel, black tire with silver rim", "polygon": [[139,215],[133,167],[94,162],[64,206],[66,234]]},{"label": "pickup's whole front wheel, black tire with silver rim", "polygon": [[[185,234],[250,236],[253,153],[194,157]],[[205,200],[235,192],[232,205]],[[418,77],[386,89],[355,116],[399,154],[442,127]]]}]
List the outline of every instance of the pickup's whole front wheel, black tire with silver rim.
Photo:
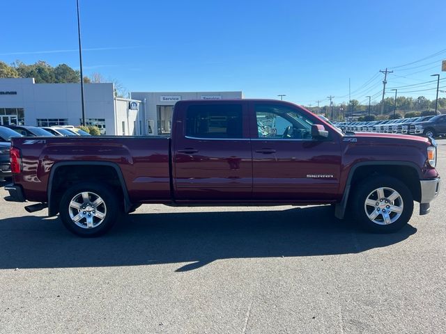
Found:
[{"label": "pickup's whole front wheel, black tire with silver rim", "polygon": [[[394,199],[396,194],[399,196]],[[351,194],[351,205],[353,219],[361,228],[374,233],[391,233],[401,230],[410,220],[413,196],[400,180],[376,176],[362,180],[355,186]],[[374,215],[377,216],[372,220]]]}]

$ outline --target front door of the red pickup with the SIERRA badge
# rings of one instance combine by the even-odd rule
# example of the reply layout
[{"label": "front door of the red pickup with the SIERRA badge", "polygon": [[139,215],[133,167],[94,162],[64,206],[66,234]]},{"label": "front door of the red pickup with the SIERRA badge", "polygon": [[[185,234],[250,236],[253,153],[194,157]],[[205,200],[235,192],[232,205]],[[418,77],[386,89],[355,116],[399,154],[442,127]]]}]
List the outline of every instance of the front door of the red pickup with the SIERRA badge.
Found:
[{"label": "front door of the red pickup with the SIERRA badge", "polygon": [[322,124],[298,106],[252,102],[253,198],[314,202],[334,200],[339,189],[339,134],[313,138]]}]

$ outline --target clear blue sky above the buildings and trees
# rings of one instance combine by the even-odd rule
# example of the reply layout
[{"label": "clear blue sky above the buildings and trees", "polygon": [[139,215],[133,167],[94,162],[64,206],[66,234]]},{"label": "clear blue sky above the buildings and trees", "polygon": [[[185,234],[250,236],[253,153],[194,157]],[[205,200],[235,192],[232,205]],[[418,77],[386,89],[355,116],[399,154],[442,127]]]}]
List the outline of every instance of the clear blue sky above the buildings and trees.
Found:
[{"label": "clear blue sky above the buildings and trees", "polygon": [[[349,78],[352,98],[380,100],[385,67],[396,67],[387,87],[409,92],[401,95],[433,99],[424,89],[436,83],[423,82],[446,77],[444,0],[79,3],[84,75],[129,91],[243,90],[314,106],[328,95],[347,102]],[[75,0],[6,1],[1,10],[0,61],[79,67]]]}]

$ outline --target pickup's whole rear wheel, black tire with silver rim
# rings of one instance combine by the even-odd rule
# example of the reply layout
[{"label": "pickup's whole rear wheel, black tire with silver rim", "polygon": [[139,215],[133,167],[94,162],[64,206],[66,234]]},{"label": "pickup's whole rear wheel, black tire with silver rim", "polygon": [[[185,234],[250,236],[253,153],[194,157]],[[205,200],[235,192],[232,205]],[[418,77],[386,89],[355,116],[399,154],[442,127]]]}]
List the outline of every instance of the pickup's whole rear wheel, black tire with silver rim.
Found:
[{"label": "pickup's whole rear wheel, black tire with silver rim", "polygon": [[[85,198],[83,193],[86,193]],[[98,237],[116,223],[121,214],[120,208],[118,196],[109,186],[83,182],[63,193],[59,216],[70,232],[80,237]],[[79,221],[75,222],[75,220]]]}]

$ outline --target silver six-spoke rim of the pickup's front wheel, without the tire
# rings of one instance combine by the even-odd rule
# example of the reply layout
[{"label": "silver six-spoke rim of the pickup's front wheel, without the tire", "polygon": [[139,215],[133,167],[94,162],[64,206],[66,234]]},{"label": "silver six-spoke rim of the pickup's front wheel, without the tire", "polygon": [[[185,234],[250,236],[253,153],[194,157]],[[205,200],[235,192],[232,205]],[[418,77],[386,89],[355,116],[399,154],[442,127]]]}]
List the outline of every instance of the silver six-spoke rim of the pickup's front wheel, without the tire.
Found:
[{"label": "silver six-spoke rim of the pickup's front wheel, without the tire", "polygon": [[389,225],[397,221],[403,212],[403,198],[398,191],[382,187],[375,189],[364,203],[364,210],[371,221]]}]

